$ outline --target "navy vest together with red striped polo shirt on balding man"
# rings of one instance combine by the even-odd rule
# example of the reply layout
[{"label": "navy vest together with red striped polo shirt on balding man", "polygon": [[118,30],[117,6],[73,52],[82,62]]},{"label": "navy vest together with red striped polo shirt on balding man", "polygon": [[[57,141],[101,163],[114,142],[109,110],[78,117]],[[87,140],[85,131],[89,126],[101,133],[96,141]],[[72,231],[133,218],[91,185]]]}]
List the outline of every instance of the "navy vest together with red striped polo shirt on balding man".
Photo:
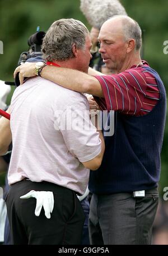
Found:
[{"label": "navy vest together with red striped polo shirt on balding man", "polygon": [[115,110],[114,119],[108,115],[108,129],[114,127],[114,133],[106,132],[103,125],[105,153],[100,168],[90,172],[88,189],[108,195],[157,187],[166,118],[166,92],[160,76],[143,62],[97,79],[105,97],[96,98],[97,103],[102,110]]}]

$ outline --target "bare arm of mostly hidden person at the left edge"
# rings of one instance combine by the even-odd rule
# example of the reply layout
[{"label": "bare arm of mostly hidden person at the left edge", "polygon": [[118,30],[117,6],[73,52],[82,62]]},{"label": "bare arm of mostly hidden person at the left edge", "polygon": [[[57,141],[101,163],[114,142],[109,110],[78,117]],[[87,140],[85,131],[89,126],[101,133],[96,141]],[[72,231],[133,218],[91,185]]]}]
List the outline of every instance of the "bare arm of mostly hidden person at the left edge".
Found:
[{"label": "bare arm of mostly hidden person at the left edge", "polygon": [[[10,109],[7,110],[10,113]],[[10,128],[10,120],[2,117],[0,118],[0,155],[4,155],[12,141],[12,134]]]}]

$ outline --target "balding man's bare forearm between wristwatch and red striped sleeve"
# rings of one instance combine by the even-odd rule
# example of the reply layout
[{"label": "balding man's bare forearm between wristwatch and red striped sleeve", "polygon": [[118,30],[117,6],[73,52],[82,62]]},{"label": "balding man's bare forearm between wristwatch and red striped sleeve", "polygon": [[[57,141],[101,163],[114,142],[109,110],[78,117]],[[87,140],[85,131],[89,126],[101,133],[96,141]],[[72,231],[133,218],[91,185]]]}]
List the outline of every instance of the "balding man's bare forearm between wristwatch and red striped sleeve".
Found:
[{"label": "balding man's bare forearm between wristwatch and red striped sleeve", "polygon": [[41,77],[73,91],[104,97],[99,81],[78,70],[45,66]]}]

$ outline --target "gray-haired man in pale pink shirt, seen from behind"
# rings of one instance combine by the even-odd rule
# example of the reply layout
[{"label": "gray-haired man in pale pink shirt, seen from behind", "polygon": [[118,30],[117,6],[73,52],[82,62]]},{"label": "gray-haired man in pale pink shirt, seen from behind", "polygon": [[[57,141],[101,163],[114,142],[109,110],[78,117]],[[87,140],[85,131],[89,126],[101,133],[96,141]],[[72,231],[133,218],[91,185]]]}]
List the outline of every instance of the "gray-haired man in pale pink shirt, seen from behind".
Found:
[{"label": "gray-haired man in pale pink shirt, seen from behind", "polygon": [[[86,26],[74,19],[55,21],[42,46],[47,65],[83,73],[88,72],[90,49]],[[87,98],[32,78],[13,94],[10,123],[6,203],[13,243],[80,244],[85,215],[77,195],[84,194],[89,169],[99,168],[104,154]]]}]

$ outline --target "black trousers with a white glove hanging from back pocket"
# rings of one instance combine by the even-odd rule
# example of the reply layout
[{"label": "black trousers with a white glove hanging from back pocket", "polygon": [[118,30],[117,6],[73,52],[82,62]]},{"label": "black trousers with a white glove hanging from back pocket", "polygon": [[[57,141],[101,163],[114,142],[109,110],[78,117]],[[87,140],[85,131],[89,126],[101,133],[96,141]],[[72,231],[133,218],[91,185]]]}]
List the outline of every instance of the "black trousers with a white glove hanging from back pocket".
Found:
[{"label": "black trousers with a white glove hanging from back pocket", "polygon": [[[53,192],[50,219],[45,217],[43,208],[40,216],[35,216],[35,198],[20,199],[31,190]],[[81,244],[85,215],[74,191],[54,183],[24,179],[11,185],[6,204],[13,244]]]}]

